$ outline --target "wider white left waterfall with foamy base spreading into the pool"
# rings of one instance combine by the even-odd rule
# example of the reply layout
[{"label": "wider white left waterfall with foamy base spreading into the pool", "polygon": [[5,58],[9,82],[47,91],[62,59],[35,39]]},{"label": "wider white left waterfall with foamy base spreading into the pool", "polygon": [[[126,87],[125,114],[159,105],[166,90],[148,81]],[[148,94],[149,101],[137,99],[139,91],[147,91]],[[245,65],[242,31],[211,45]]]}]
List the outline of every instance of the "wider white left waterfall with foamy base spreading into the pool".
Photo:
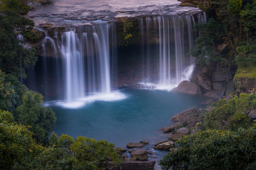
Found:
[{"label": "wider white left waterfall with foamy base spreading into the pool", "polygon": [[[42,41],[43,87],[47,91],[49,82],[55,91],[63,89],[59,99],[64,100],[58,104],[76,108],[94,100],[124,98],[121,93],[112,91],[111,80],[117,78],[115,30],[114,23],[95,21],[95,25],[69,27],[62,32],[55,29],[54,38],[45,31]],[[48,70],[53,60],[56,64],[54,72]],[[48,79],[53,73],[55,82],[50,82]]]}]

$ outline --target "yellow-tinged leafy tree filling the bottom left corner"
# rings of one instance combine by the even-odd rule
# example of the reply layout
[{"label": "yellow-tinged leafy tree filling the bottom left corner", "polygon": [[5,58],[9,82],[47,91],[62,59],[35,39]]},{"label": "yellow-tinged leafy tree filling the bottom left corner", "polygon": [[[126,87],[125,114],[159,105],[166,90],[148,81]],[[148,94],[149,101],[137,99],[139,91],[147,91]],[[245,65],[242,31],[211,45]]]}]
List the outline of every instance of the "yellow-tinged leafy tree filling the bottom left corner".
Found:
[{"label": "yellow-tinged leafy tree filling the bottom left corner", "polygon": [[11,113],[0,112],[0,169],[11,169],[23,157],[34,157],[43,147],[32,138],[30,127],[11,123]]}]

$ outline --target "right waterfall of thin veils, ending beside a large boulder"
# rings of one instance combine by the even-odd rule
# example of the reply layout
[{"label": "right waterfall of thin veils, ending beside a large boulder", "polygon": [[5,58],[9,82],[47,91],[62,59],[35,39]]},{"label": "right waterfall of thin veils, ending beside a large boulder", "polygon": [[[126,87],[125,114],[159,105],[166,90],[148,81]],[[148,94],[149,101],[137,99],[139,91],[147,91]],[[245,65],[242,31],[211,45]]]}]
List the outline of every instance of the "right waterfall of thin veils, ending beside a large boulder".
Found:
[{"label": "right waterfall of thin veils, ending beside a large boulder", "polygon": [[[197,20],[199,23],[207,22],[206,14],[197,14]],[[196,38],[196,33],[192,31],[195,27],[194,16],[146,17],[141,19],[140,27],[141,35],[146,40],[142,47],[142,87],[171,90],[181,81],[190,80],[195,58],[187,53]],[[153,61],[157,65],[152,65]]]}]

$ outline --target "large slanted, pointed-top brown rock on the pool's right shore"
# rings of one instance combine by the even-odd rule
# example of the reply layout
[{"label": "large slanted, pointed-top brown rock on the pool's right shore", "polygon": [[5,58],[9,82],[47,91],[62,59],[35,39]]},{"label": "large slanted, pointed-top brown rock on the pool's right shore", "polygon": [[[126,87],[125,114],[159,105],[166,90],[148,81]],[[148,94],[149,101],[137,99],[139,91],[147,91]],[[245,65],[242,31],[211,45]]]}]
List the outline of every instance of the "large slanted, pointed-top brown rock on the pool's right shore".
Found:
[{"label": "large slanted, pointed-top brown rock on the pool's right shore", "polygon": [[173,116],[171,118],[171,121],[191,122],[196,120],[197,117],[198,117],[197,113],[193,112],[192,109],[188,109]]}]

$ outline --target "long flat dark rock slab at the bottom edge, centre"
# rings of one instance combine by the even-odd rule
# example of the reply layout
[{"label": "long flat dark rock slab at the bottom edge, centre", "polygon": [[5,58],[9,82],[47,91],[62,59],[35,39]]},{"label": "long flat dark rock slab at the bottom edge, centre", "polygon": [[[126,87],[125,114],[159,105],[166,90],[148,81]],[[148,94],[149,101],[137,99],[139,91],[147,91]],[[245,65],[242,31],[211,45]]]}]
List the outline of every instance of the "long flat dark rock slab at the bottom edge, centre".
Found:
[{"label": "long flat dark rock slab at the bottom edge, centre", "polygon": [[125,161],[120,166],[115,166],[114,162],[108,162],[106,170],[154,170],[156,161]]}]

